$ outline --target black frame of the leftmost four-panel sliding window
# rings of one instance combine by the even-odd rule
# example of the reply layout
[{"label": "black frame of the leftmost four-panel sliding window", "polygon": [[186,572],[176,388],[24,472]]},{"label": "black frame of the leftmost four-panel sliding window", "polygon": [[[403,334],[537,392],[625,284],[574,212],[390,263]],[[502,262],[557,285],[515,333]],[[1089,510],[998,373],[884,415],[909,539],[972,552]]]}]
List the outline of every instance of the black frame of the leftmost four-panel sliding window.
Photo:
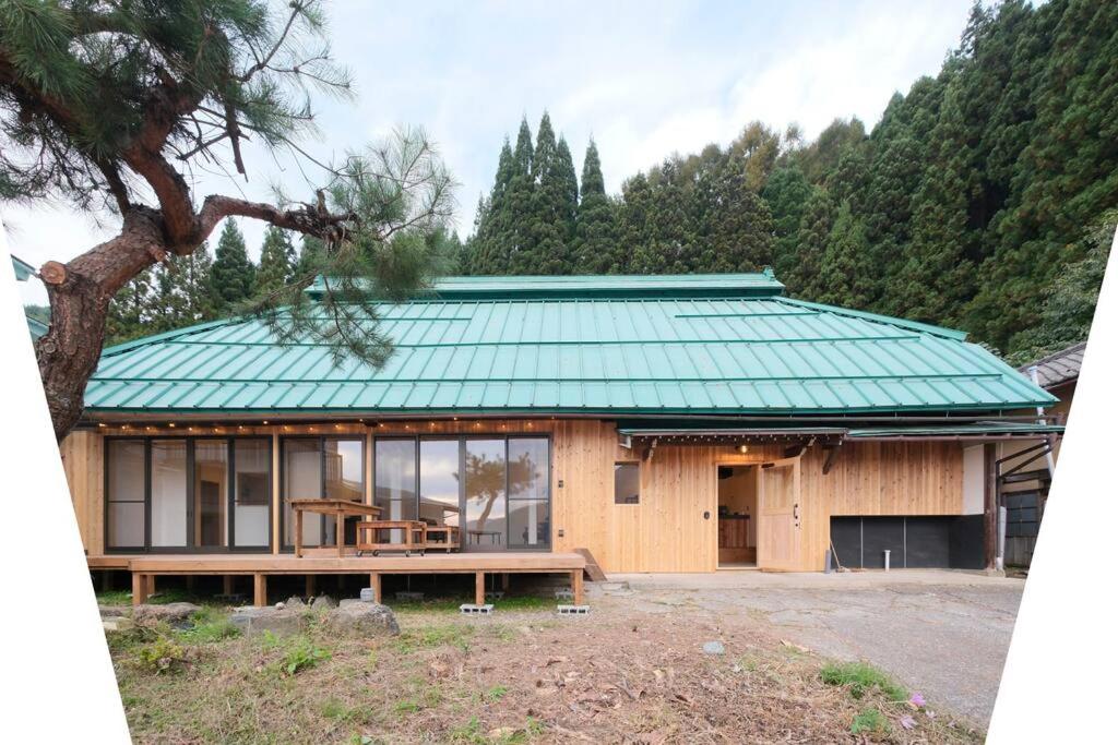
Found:
[{"label": "black frame of the leftmost four-panel sliding window", "polygon": [[[113,546],[108,536],[108,468],[111,442],[114,441],[142,442],[144,451],[144,474],[143,474],[143,506],[144,506],[144,545],[143,546]],[[157,440],[182,440],[187,443],[187,545],[184,546],[152,546],[151,545],[151,445]],[[224,546],[192,546],[195,537],[193,528],[193,493],[195,493],[195,443],[198,440],[216,440],[226,443],[226,545]],[[268,543],[267,545],[238,546],[236,545],[236,440],[258,440],[268,445]],[[271,553],[273,542],[273,526],[275,524],[275,498],[273,494],[274,462],[272,452],[272,438],[260,434],[113,434],[105,437],[104,447],[104,478],[103,478],[103,541],[106,554],[224,554],[224,553]]]}]

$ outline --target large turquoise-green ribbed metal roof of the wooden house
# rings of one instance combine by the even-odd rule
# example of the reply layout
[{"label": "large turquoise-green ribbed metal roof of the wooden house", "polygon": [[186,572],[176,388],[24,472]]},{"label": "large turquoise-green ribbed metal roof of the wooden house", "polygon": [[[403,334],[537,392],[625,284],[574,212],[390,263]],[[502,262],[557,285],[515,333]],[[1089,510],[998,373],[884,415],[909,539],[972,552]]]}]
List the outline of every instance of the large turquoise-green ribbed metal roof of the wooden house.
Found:
[{"label": "large turquoise-green ribbed metal roof of the wooden house", "polygon": [[965,334],[781,296],[770,274],[463,277],[381,305],[377,371],[219,321],[105,350],[97,412],[822,414],[1054,399]]}]

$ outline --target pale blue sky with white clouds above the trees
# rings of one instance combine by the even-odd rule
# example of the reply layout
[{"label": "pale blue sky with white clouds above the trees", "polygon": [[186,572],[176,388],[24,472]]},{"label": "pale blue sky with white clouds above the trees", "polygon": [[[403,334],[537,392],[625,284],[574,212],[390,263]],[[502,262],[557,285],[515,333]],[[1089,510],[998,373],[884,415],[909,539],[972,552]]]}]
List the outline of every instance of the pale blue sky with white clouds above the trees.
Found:
[{"label": "pale blue sky with white clouds above the trees", "polygon": [[[872,126],[893,93],[935,75],[958,44],[970,0],[845,2],[330,3],[329,35],[356,83],[352,102],[318,99],[319,156],[423,126],[458,182],[459,235],[472,228],[505,136],[534,133],[548,111],[581,172],[593,136],[606,188],[673,152],[728,143],[751,121],[807,139],[836,117]],[[225,192],[307,198],[316,174],[290,156],[249,150],[244,179],[202,175],[196,200]],[[303,197],[306,195],[306,197]],[[68,260],[113,235],[66,206],[0,206],[12,254],[34,266]],[[241,221],[258,258],[264,228]],[[25,302],[42,303],[36,281]]]}]

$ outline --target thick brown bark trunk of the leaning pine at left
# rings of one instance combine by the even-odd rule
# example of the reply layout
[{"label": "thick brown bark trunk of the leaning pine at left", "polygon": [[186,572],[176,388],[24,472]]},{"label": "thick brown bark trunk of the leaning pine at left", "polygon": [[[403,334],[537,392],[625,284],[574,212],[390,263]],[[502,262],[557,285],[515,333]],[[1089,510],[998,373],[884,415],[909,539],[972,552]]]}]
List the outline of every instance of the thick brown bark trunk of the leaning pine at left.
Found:
[{"label": "thick brown bark trunk of the leaning pine at left", "polygon": [[36,343],[47,408],[61,441],[82,417],[85,386],[105,341],[108,302],[142,269],[167,256],[159,217],[134,209],[121,235],[66,265],[39,270],[50,298],[50,328]]}]

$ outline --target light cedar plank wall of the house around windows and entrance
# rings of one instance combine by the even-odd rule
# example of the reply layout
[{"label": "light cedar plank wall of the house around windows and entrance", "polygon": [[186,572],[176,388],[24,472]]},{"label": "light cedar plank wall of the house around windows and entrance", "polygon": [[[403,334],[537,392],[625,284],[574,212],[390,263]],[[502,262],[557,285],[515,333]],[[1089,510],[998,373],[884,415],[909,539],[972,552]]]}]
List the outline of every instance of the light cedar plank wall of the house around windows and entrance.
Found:
[{"label": "light cedar plank wall of the house around windows and entrance", "polygon": [[[212,427],[187,431],[160,427],[160,434],[214,434]],[[718,566],[717,465],[756,464],[780,457],[783,446],[659,447],[641,468],[641,503],[615,505],[613,465],[638,461],[618,445],[613,422],[588,419],[532,421],[439,421],[361,424],[225,427],[217,434],[300,433],[550,433],[552,438],[552,547],[589,548],[606,572],[711,572]],[[82,537],[91,556],[103,552],[104,439],[150,434],[130,430],[76,431],[61,445]],[[956,442],[847,442],[831,472],[824,451],[813,447],[800,464],[802,561],[823,569],[832,515],[957,515],[963,512],[963,450]],[[273,448],[274,481],[278,448]],[[367,461],[369,458],[367,458]],[[562,481],[562,487],[559,481]],[[371,494],[371,490],[368,490]],[[703,519],[703,513],[710,519]],[[276,520],[278,523],[278,520]],[[278,527],[278,526],[276,526]],[[562,537],[559,531],[562,531]],[[276,545],[278,545],[277,542]]]}]

